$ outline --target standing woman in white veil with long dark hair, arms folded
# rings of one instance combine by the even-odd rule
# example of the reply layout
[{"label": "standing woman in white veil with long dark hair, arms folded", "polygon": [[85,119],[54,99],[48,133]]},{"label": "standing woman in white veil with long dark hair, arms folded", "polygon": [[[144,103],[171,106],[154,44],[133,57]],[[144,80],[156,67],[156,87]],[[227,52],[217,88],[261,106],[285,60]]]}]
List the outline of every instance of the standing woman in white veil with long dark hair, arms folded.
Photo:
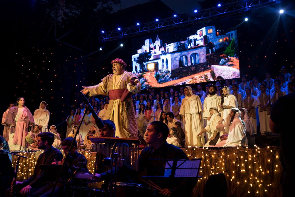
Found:
[{"label": "standing woman in white veil with long dark hair, arms folded", "polygon": [[[219,105],[219,111],[221,112],[221,118],[224,119],[224,122],[230,122],[230,109],[238,107],[237,98],[230,94],[230,88],[224,86],[222,88],[222,97],[221,97],[221,104]],[[229,124],[225,125],[224,128],[225,132],[228,133],[230,131]]]}]

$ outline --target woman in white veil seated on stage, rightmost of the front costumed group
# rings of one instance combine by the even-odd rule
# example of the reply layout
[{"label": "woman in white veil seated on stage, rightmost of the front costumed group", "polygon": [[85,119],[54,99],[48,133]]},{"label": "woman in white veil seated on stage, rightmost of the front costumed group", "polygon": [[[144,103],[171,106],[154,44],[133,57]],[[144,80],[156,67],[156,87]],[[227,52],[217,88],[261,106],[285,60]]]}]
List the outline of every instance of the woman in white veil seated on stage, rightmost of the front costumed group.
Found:
[{"label": "woman in white veil seated on stage, rightmost of the front costumed group", "polygon": [[248,140],[246,137],[245,123],[242,122],[240,118],[241,111],[239,109],[230,109],[230,122],[225,122],[225,124],[230,125],[230,132],[228,135],[222,135],[220,139],[222,140],[215,146],[248,146]]}]

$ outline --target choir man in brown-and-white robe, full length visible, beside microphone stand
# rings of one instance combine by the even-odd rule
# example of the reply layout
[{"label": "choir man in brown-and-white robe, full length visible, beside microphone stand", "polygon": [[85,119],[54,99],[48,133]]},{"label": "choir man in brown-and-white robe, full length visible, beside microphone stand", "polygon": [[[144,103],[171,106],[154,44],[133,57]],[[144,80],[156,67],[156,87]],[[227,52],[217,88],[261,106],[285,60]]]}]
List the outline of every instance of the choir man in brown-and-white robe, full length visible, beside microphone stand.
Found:
[{"label": "choir man in brown-and-white robe, full length visible, beside microphone stand", "polygon": [[270,119],[270,113],[271,113],[269,97],[270,97],[270,94],[266,92],[266,85],[261,84],[260,93],[256,97],[257,106],[259,106],[258,116],[259,116],[261,135],[265,135],[267,132],[271,131],[269,127],[269,119]]}]

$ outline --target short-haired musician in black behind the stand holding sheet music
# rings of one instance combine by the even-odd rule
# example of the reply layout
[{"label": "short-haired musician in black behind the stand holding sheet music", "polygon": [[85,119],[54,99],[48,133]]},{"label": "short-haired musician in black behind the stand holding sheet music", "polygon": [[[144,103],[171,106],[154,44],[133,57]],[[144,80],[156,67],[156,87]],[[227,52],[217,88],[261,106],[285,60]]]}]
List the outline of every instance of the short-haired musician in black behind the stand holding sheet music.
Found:
[{"label": "short-haired musician in black behind the stand holding sheet music", "polygon": [[[145,132],[146,142],[150,144],[149,147],[146,147],[142,150],[139,156],[139,174],[138,177],[142,176],[163,176],[166,161],[165,159],[188,159],[186,154],[180,148],[168,144],[166,139],[168,137],[169,129],[167,125],[160,121],[151,122]],[[150,159],[164,159],[163,161],[159,160],[150,160]],[[158,168],[158,169],[157,169]],[[126,166],[122,166],[118,169],[118,174],[121,175],[125,172],[126,176],[134,175],[134,172],[131,170],[126,170]],[[93,179],[104,180],[107,175],[110,174],[110,170],[105,173],[95,174]],[[140,179],[140,178],[139,178]],[[191,191],[196,184],[196,180],[183,179],[174,179],[174,180],[155,180],[154,182],[164,188],[160,193],[163,196],[190,196]]]}]

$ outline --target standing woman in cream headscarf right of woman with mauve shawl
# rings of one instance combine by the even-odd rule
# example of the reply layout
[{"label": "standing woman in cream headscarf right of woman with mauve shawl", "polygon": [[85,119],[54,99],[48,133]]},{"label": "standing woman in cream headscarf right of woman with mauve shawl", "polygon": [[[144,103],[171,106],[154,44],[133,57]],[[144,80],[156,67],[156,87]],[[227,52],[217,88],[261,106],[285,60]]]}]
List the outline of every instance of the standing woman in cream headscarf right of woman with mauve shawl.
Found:
[{"label": "standing woman in cream headscarf right of woman with mauve shawl", "polygon": [[50,112],[46,109],[47,103],[42,101],[40,103],[39,109],[34,112],[34,122],[39,125],[41,132],[47,132],[48,122],[50,118]]}]

